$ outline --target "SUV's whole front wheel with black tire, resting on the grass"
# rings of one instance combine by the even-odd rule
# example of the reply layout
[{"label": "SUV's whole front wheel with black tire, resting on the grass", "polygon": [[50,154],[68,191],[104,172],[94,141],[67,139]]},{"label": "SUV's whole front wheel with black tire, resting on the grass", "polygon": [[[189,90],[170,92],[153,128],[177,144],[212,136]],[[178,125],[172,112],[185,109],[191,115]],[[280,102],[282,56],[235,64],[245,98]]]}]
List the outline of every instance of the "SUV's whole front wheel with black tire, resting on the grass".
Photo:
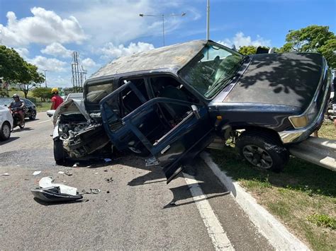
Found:
[{"label": "SUV's whole front wheel with black tire, resting on the grass", "polygon": [[279,173],[289,161],[289,151],[271,133],[245,131],[238,137],[236,147],[240,155],[258,169]]}]

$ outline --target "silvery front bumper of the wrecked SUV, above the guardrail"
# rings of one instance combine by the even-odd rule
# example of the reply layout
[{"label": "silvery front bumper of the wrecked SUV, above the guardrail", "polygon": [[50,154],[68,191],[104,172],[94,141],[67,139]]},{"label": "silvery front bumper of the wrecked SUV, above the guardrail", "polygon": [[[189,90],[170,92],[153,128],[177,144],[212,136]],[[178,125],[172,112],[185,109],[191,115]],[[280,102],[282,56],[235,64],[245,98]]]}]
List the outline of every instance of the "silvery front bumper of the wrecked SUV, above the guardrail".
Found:
[{"label": "silvery front bumper of the wrecked SUV, above the guardrail", "polygon": [[323,119],[325,117],[325,111],[327,110],[327,101],[330,95],[330,84],[327,84],[325,87],[325,91],[323,93],[323,102],[318,111],[318,116],[315,117],[313,122],[308,124],[308,126],[300,128],[300,129],[293,129],[289,131],[278,132],[282,143],[290,144],[290,143],[297,143],[303,141],[308,138],[310,134],[315,132],[315,130],[320,128],[320,125],[323,123]]}]

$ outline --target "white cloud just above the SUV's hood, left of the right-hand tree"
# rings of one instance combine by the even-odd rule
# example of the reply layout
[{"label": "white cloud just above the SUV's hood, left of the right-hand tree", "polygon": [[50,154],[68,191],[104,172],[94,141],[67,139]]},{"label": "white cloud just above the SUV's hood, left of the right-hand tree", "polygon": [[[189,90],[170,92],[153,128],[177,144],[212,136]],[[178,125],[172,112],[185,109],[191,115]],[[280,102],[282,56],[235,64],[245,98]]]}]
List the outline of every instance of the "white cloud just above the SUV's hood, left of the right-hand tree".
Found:
[{"label": "white cloud just above the SUV's hood, left of the right-hand tree", "polygon": [[250,36],[245,36],[244,33],[239,32],[235,34],[235,37],[228,39],[226,38],[223,41],[218,41],[218,43],[225,45],[226,47],[232,47],[235,45],[237,49],[242,46],[253,45],[253,46],[271,46],[271,40],[265,40],[263,37],[257,35],[256,40],[252,40]]}]

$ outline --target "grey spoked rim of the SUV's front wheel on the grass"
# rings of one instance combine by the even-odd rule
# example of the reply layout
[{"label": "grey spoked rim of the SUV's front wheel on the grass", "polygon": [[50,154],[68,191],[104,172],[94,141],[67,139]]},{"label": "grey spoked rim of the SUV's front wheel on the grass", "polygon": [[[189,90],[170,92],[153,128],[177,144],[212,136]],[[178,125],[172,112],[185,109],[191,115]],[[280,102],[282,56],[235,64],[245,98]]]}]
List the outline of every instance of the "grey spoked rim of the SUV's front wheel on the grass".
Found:
[{"label": "grey spoked rim of the SUV's front wheel on the grass", "polygon": [[269,169],[273,165],[273,160],[267,151],[259,146],[247,145],[242,148],[242,154],[252,165]]}]

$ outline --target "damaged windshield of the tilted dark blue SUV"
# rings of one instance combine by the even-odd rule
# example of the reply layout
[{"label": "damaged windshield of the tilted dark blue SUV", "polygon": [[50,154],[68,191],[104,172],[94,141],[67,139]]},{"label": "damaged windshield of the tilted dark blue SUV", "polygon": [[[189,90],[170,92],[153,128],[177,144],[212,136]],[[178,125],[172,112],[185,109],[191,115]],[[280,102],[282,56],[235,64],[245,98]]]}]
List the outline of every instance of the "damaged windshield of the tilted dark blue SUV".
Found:
[{"label": "damaged windshield of the tilted dark blue SUV", "polygon": [[179,72],[181,78],[206,98],[212,98],[235,76],[244,57],[232,49],[208,43]]}]

